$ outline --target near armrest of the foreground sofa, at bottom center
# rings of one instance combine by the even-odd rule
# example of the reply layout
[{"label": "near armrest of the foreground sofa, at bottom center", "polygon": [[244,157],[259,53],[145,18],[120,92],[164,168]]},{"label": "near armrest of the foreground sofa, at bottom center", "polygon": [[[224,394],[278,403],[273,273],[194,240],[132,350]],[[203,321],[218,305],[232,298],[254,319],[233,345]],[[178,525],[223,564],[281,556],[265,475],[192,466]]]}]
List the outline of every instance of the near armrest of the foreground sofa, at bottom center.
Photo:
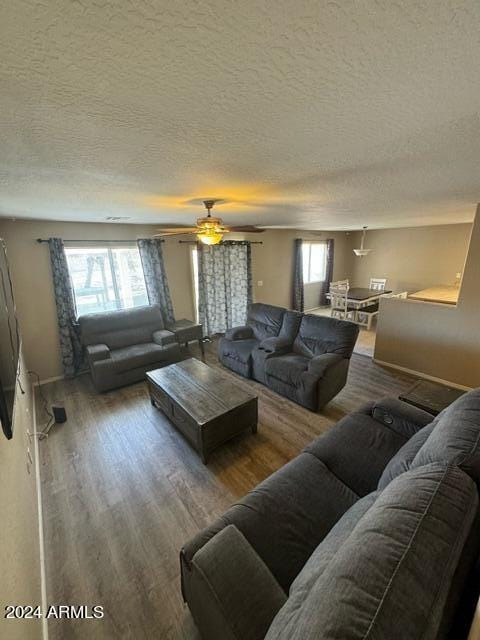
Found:
[{"label": "near armrest of the foreground sofa, at bottom center", "polygon": [[193,556],[188,604],[204,638],[263,640],[286,595],[263,560],[234,526]]}]

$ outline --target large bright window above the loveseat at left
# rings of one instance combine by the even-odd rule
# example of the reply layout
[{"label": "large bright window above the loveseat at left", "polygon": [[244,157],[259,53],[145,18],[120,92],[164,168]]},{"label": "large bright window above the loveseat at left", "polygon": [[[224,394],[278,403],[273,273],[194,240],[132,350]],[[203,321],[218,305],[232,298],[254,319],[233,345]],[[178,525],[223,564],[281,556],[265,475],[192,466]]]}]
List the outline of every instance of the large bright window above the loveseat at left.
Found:
[{"label": "large bright window above the loveseat at left", "polygon": [[65,247],[77,317],[148,304],[136,246]]}]

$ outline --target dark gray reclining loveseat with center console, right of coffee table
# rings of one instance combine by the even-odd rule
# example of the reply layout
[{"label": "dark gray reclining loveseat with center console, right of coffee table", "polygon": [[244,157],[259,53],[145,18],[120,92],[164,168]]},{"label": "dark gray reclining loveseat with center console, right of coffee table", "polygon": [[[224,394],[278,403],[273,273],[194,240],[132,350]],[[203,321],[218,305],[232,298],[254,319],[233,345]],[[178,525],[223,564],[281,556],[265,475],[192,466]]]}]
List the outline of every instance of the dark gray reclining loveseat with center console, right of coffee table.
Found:
[{"label": "dark gray reclining loveseat with center console, right of coffee table", "polygon": [[254,303],[247,323],[220,339],[222,364],[312,411],[345,386],[358,326]]}]

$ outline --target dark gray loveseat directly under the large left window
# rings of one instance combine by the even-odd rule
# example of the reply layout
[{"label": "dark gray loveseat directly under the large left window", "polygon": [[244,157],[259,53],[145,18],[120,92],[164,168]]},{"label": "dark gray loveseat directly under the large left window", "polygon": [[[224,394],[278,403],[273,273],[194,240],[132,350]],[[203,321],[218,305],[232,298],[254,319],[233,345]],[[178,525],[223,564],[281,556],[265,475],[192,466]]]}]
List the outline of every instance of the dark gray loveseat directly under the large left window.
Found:
[{"label": "dark gray loveseat directly under the large left window", "polygon": [[146,371],[184,357],[175,334],[163,327],[159,305],[91,313],[78,323],[98,391],[138,382]]}]

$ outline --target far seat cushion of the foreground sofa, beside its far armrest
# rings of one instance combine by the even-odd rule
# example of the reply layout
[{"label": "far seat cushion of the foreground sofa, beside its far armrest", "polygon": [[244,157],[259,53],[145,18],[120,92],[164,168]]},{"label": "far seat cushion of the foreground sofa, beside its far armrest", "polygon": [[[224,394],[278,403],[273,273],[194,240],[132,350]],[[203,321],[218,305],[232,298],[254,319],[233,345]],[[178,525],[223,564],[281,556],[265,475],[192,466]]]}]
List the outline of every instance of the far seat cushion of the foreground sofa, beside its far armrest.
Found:
[{"label": "far seat cushion of the foreground sofa, beside its far armrest", "polygon": [[385,466],[406,442],[368,412],[367,406],[345,416],[305,449],[360,496],[375,491]]}]

